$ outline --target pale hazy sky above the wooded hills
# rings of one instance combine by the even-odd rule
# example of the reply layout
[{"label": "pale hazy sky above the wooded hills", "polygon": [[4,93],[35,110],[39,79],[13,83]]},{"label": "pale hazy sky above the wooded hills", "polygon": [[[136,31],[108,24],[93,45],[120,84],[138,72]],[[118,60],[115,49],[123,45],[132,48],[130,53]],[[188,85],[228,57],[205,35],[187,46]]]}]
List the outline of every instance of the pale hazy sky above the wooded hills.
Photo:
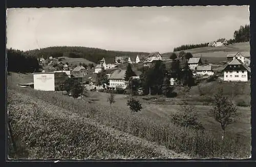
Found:
[{"label": "pale hazy sky above the wooded hills", "polygon": [[17,8],[7,10],[7,48],[85,46],[172,52],[182,44],[230,39],[249,25],[248,6]]}]

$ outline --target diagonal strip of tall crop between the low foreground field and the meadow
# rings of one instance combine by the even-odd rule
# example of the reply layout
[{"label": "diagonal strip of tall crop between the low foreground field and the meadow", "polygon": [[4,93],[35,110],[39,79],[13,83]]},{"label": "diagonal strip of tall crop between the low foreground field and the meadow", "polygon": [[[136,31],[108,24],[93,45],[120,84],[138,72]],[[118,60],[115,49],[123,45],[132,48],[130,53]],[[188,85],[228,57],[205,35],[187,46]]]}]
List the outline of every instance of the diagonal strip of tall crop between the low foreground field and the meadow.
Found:
[{"label": "diagonal strip of tall crop between the low foreground field and the meadow", "polygon": [[[250,143],[244,144],[236,138],[226,138],[221,142],[219,136],[207,132],[201,133],[192,129],[174,126],[170,120],[150,120],[141,114],[123,112],[115,107],[94,106],[87,102],[61,96],[55,92],[36,91],[33,89],[12,87],[16,91],[31,97],[42,99],[48,103],[84,115],[101,124],[112,126],[118,130],[157,142],[176,152],[188,153],[200,158],[248,158]],[[74,123],[76,124],[76,123]],[[73,127],[75,125],[70,125]],[[72,130],[72,129],[71,129]]]}]

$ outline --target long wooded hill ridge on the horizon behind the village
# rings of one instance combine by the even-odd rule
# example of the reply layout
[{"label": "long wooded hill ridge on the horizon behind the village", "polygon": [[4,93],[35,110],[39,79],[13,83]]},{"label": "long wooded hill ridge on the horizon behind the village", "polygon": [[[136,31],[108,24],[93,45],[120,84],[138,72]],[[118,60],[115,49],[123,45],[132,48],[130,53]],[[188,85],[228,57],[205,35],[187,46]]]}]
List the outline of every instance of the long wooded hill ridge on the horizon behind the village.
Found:
[{"label": "long wooded hill ridge on the horizon behind the village", "polygon": [[116,56],[129,56],[136,57],[137,55],[147,55],[148,53],[142,52],[122,52],[122,51],[107,51],[92,47],[82,47],[82,46],[53,46],[46,47],[40,50],[26,51],[29,55],[34,55],[37,58],[44,57],[53,58],[66,56],[70,58],[84,58],[89,61],[98,63],[103,57],[107,62],[115,62]]}]

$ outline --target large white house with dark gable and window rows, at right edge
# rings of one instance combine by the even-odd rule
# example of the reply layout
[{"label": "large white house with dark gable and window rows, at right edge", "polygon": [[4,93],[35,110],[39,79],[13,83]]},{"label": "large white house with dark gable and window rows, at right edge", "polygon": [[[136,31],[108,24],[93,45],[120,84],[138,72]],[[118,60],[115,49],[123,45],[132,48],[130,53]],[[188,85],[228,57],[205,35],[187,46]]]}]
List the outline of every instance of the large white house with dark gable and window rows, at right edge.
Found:
[{"label": "large white house with dark gable and window rows, at right edge", "polygon": [[238,58],[229,62],[224,71],[224,81],[248,81],[250,79],[250,68]]}]

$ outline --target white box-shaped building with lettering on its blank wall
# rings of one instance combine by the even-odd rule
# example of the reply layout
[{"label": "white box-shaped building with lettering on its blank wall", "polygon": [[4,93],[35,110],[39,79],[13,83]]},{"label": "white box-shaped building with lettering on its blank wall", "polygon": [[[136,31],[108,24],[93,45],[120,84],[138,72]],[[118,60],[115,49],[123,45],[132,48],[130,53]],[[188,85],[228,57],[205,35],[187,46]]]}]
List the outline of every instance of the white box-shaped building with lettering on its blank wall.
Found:
[{"label": "white box-shaped building with lettering on its blank wall", "polygon": [[33,73],[34,89],[54,91],[58,81],[65,80],[67,77],[65,72]]}]

